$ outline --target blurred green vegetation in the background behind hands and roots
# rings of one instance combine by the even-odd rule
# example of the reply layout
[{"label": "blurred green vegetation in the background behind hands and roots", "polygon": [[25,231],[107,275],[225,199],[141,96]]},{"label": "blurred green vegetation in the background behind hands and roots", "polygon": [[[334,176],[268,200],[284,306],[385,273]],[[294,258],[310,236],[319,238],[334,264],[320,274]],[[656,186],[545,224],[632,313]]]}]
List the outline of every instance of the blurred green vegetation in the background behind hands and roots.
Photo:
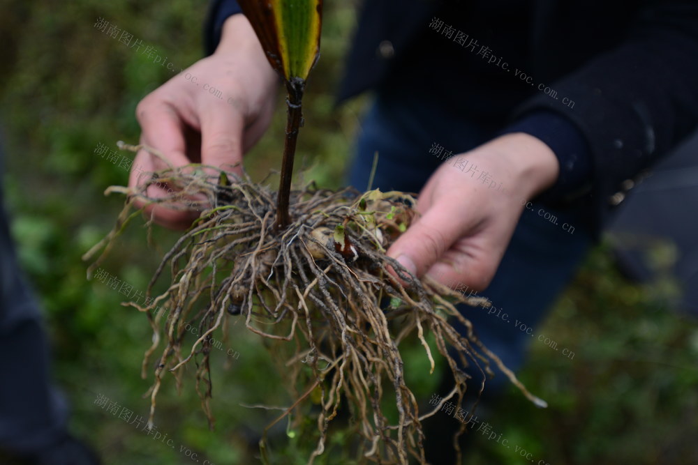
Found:
[{"label": "blurred green vegetation in the background behind hands and roots", "polygon": [[[322,57],[311,75],[299,142],[299,166],[306,168],[307,179],[325,187],[343,183],[365,101],[332,108],[341,57],[356,21],[352,3],[327,2]],[[45,308],[54,378],[73,405],[73,430],[106,464],[196,463],[184,448],[198,454],[200,463],[255,463],[248,443],[279,411],[241,404],[289,404],[275,365],[242,325],[224,344],[239,358],[226,360],[223,352],[214,358],[214,432],[207,429],[191,377],[181,395],[169,382],[158,399],[156,426],[172,438],[174,449],[94,404],[104,395],[147,416],[149,402],[142,395],[150,380],[140,379],[140,365],[151,337],[144,315],[121,306],[117,291],[85,278],[87,264],[80,256],[109,231],[124,200],[104,197],[103,191],[127,179],[124,169],[94,155],[94,149],[98,143],[114,147],[119,139],[137,142],[135,105],[172,77],[94,24],[103,17],[186,68],[202,54],[205,9],[205,2],[194,0],[6,0],[0,8],[0,119],[13,234]],[[277,116],[269,135],[246,158],[248,171],[259,180],[279,166],[281,106]],[[276,178],[269,183],[276,185]],[[147,247],[143,229],[132,227],[103,268],[144,289],[173,238],[158,231],[157,245]],[[658,266],[670,263],[667,250],[653,252]],[[574,358],[533,340],[521,370],[523,381],[547,399],[549,409],[535,409],[512,390],[488,418],[493,431],[530,452],[534,463],[698,463],[698,328],[667,310],[671,289],[670,282],[640,287],[625,281],[609,247],[597,247],[551,317],[535,328],[574,351]],[[424,366],[418,354],[407,358],[408,367]],[[435,386],[435,376],[424,372],[414,381],[417,398],[425,404]],[[468,463],[529,462],[514,447],[473,436]],[[304,463],[309,449],[300,439],[277,443],[274,463]],[[342,441],[341,435],[334,437],[319,462],[350,463],[339,452]]]}]

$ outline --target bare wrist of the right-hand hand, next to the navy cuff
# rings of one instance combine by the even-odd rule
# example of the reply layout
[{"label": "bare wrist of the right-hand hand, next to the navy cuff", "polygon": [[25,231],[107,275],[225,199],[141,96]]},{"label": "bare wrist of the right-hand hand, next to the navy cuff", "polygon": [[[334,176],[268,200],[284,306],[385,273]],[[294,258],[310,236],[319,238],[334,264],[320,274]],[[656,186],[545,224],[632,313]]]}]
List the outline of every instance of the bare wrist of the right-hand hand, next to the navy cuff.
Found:
[{"label": "bare wrist of the right-hand hand, next to the navy cuff", "polygon": [[485,144],[502,158],[512,171],[519,194],[533,199],[555,184],[560,163],[552,149],[526,132],[512,132]]}]

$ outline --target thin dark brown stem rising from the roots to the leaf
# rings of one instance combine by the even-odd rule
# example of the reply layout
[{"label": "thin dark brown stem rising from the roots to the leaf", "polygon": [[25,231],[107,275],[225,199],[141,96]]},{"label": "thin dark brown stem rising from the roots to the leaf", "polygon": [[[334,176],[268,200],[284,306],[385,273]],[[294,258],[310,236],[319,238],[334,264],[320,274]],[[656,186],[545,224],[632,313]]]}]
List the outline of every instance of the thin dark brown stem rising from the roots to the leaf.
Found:
[{"label": "thin dark brown stem rising from the roots to the leaf", "polygon": [[292,78],[290,82],[286,82],[286,105],[288,106],[288,118],[286,119],[286,139],[283,144],[283,161],[281,162],[279,197],[276,199],[277,231],[281,231],[291,222],[290,215],[288,214],[288,200],[291,192],[293,158],[296,154],[298,130],[303,120],[301,102],[303,100],[304,86],[305,82],[303,79]]}]

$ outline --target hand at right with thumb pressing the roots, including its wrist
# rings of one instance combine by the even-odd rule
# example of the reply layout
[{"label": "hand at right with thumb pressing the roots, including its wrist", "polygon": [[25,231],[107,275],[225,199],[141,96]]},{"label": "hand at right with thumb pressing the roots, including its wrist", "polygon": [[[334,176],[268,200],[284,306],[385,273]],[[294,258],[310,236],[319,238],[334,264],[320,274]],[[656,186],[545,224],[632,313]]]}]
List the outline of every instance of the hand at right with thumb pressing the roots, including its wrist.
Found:
[{"label": "hand at right with thumb pressing the roots, including its wrist", "polygon": [[488,188],[454,167],[452,159],[443,163],[419,193],[421,216],[387,254],[417,277],[429,274],[450,287],[466,284],[482,291],[494,277],[526,199],[555,183],[559,164],[546,144],[523,132],[456,156],[489,173],[507,192]]}]

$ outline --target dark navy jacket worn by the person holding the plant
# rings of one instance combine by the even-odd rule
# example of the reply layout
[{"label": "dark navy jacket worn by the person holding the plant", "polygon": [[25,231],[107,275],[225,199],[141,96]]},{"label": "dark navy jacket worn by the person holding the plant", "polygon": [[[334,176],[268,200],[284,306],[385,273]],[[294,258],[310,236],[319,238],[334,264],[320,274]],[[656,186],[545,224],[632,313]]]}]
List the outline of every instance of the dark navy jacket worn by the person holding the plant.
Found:
[{"label": "dark navy jacket worn by the person holding the plant", "polygon": [[[207,52],[237,12],[213,2]],[[544,197],[586,204],[600,227],[698,125],[698,1],[369,0],[339,98],[366,89],[538,137],[560,160]]]}]

